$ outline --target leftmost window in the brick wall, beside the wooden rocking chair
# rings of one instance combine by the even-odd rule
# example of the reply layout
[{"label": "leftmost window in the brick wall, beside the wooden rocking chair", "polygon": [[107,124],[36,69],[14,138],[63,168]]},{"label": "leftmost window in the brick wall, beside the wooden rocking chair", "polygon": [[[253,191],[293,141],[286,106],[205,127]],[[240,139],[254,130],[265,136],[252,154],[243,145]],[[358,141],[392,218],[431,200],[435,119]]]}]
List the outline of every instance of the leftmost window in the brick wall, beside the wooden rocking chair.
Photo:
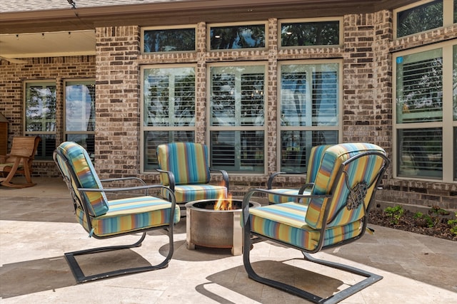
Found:
[{"label": "leftmost window in the brick wall, beside the wooden rocking chair", "polygon": [[39,135],[36,159],[52,159],[56,149],[56,83],[25,83],[25,135]]}]

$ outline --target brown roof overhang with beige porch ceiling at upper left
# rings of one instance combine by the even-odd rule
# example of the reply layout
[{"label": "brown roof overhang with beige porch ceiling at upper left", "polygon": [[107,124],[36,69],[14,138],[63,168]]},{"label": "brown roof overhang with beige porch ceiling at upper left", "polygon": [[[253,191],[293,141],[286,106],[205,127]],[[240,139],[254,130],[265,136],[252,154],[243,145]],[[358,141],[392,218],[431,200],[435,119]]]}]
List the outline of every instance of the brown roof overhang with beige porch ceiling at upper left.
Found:
[{"label": "brown roof overhang with beige porch ceiling at upper left", "polygon": [[[64,1],[64,0],[62,0]],[[78,2],[78,1],[76,1]],[[412,0],[174,0],[0,13],[0,56],[95,54],[95,28],[294,19],[364,14]],[[110,3],[113,3],[112,1]],[[138,1],[136,1],[138,3]],[[65,7],[65,6],[64,6]]]}]

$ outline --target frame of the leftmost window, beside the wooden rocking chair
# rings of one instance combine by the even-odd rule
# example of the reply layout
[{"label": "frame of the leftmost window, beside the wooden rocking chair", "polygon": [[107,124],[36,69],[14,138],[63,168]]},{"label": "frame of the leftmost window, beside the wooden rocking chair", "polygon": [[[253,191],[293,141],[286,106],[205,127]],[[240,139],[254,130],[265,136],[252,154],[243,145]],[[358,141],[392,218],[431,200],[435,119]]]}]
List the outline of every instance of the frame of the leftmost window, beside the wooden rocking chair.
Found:
[{"label": "frame of the leftmost window, beside the wooden rocking chair", "polygon": [[[56,111],[56,117],[54,119],[54,131],[46,131],[46,130],[39,130],[39,131],[27,131],[27,119],[26,119],[26,110],[27,110],[27,107],[26,107],[26,103],[27,103],[27,86],[29,84],[35,84],[35,85],[41,85],[41,86],[45,86],[45,85],[53,85],[54,88],[55,88],[55,104],[54,104],[54,108],[55,108],[55,111]],[[23,115],[22,115],[22,122],[23,122],[23,132],[24,132],[24,135],[25,136],[29,136],[29,135],[38,135],[38,136],[41,136],[41,142],[39,143],[39,149],[41,148],[41,150],[44,152],[44,155],[40,155],[40,152],[38,151],[37,152],[37,155],[35,157],[36,160],[41,160],[41,161],[52,161],[52,155],[49,156],[49,157],[46,157],[46,140],[43,138],[43,135],[54,135],[54,140],[57,140],[57,137],[58,137],[58,133],[57,133],[57,130],[59,130],[59,117],[61,115],[59,115],[59,84],[58,82],[56,81],[56,79],[34,79],[34,80],[24,80],[23,82],[23,100],[22,100],[22,105],[23,105]],[[54,151],[56,149],[56,147],[52,147],[52,150]]]}]

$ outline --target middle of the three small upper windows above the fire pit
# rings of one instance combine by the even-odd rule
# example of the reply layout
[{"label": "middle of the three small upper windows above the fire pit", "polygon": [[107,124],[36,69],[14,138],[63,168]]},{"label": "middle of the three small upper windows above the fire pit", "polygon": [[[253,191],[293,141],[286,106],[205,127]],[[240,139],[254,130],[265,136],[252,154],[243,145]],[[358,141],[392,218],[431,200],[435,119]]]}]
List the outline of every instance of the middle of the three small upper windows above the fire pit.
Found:
[{"label": "middle of the three small upper windows above the fire pit", "polygon": [[210,26],[209,49],[266,48],[266,23]]}]

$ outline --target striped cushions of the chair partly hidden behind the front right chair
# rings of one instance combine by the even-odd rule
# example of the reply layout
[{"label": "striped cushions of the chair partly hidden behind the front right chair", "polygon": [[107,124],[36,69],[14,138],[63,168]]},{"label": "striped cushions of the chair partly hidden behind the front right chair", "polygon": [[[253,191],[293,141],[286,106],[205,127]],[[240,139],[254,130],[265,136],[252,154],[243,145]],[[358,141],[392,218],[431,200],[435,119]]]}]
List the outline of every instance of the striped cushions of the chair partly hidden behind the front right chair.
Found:
[{"label": "striped cushions of the chair partly hidden behind the front right chair", "polygon": [[[319,166],[321,165],[324,152],[331,147],[331,145],[319,145],[311,147],[311,152],[309,154],[309,160],[306,169],[306,184],[314,182],[316,179]],[[286,193],[286,194],[298,194],[298,189],[287,189],[287,188],[276,188],[271,189],[273,192],[277,193]],[[308,192],[305,192],[308,193]],[[280,196],[276,194],[268,194],[268,201],[271,204],[282,204],[287,201],[293,201],[294,199],[287,196]]]}]

